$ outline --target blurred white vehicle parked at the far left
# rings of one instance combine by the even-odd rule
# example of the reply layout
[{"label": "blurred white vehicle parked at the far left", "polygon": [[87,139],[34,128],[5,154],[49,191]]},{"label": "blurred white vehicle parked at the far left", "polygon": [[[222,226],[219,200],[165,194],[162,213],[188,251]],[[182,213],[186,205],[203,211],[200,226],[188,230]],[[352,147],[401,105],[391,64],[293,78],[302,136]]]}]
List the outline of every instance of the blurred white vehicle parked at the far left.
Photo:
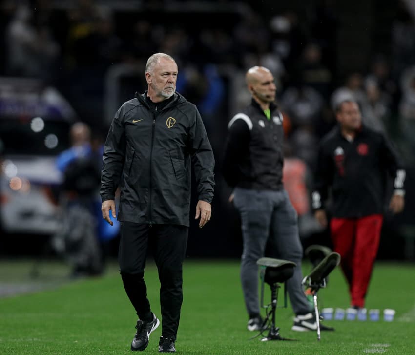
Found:
[{"label": "blurred white vehicle parked at the far left", "polygon": [[76,116],[53,87],[0,78],[0,228],[53,234],[59,228],[56,156]]}]

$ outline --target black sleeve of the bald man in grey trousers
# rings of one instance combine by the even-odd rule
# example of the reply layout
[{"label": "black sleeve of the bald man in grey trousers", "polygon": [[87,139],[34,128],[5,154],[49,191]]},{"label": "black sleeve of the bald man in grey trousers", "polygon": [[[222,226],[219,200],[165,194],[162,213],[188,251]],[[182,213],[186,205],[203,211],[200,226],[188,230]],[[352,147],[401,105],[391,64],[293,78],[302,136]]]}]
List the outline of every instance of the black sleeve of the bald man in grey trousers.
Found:
[{"label": "black sleeve of the bald man in grey trousers", "polygon": [[222,173],[227,184],[234,188],[240,177],[240,161],[249,149],[249,127],[244,120],[236,120],[230,127],[225,144]]}]

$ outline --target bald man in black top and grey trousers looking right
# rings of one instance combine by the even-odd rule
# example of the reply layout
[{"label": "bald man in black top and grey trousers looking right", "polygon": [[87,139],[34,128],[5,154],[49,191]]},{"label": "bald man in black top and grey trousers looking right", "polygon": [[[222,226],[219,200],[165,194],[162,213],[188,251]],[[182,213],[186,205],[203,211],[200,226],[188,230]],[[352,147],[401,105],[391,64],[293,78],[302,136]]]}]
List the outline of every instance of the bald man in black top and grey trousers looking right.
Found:
[{"label": "bald man in black top and grey trousers looking right", "polygon": [[[315,315],[301,286],[303,250],[298,235],[297,213],[282,182],[283,115],[274,104],[274,77],[267,68],[254,66],[246,74],[246,83],[252,100],[228,124],[223,174],[233,188],[229,201],[233,202],[241,217],[241,281],[249,317],[247,328],[256,331],[263,327],[256,261],[269,256],[290,260],[297,265],[287,282],[295,313],[292,330],[315,330]],[[332,330],[325,326],[320,329]]]}]

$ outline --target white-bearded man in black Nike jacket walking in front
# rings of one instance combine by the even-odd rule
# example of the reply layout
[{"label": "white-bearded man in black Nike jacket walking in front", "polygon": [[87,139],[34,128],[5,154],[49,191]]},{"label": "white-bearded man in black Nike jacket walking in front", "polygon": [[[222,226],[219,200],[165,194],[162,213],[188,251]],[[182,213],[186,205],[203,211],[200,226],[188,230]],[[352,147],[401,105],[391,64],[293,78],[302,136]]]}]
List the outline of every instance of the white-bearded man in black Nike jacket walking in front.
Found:
[{"label": "white-bearded man in black Nike jacket walking in front", "polygon": [[175,92],[177,64],[165,53],[148,58],[148,90],[125,102],[115,115],[104,146],[101,198],[110,224],[120,185],[120,272],[138,315],[131,350],[144,350],[160,324],[151,312],[144,281],[151,248],[160,279],[162,336],[159,351],[175,352],[183,301],[182,264],[190,217],[190,171],[197,182],[195,218],[202,228],[211,218],[214,158],[194,104]]}]

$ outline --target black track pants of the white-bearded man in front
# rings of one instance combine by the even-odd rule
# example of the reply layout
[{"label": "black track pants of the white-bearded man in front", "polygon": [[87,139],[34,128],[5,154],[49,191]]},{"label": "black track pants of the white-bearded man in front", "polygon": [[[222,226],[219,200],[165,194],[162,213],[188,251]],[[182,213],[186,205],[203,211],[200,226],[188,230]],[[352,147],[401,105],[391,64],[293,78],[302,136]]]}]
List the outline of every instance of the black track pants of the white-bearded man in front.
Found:
[{"label": "black track pants of the white-bearded man in front", "polygon": [[162,335],[176,339],[183,301],[182,266],[187,247],[188,227],[122,222],[119,249],[120,272],[128,295],[140,319],[151,319],[144,281],[147,251],[150,248],[160,279]]}]

